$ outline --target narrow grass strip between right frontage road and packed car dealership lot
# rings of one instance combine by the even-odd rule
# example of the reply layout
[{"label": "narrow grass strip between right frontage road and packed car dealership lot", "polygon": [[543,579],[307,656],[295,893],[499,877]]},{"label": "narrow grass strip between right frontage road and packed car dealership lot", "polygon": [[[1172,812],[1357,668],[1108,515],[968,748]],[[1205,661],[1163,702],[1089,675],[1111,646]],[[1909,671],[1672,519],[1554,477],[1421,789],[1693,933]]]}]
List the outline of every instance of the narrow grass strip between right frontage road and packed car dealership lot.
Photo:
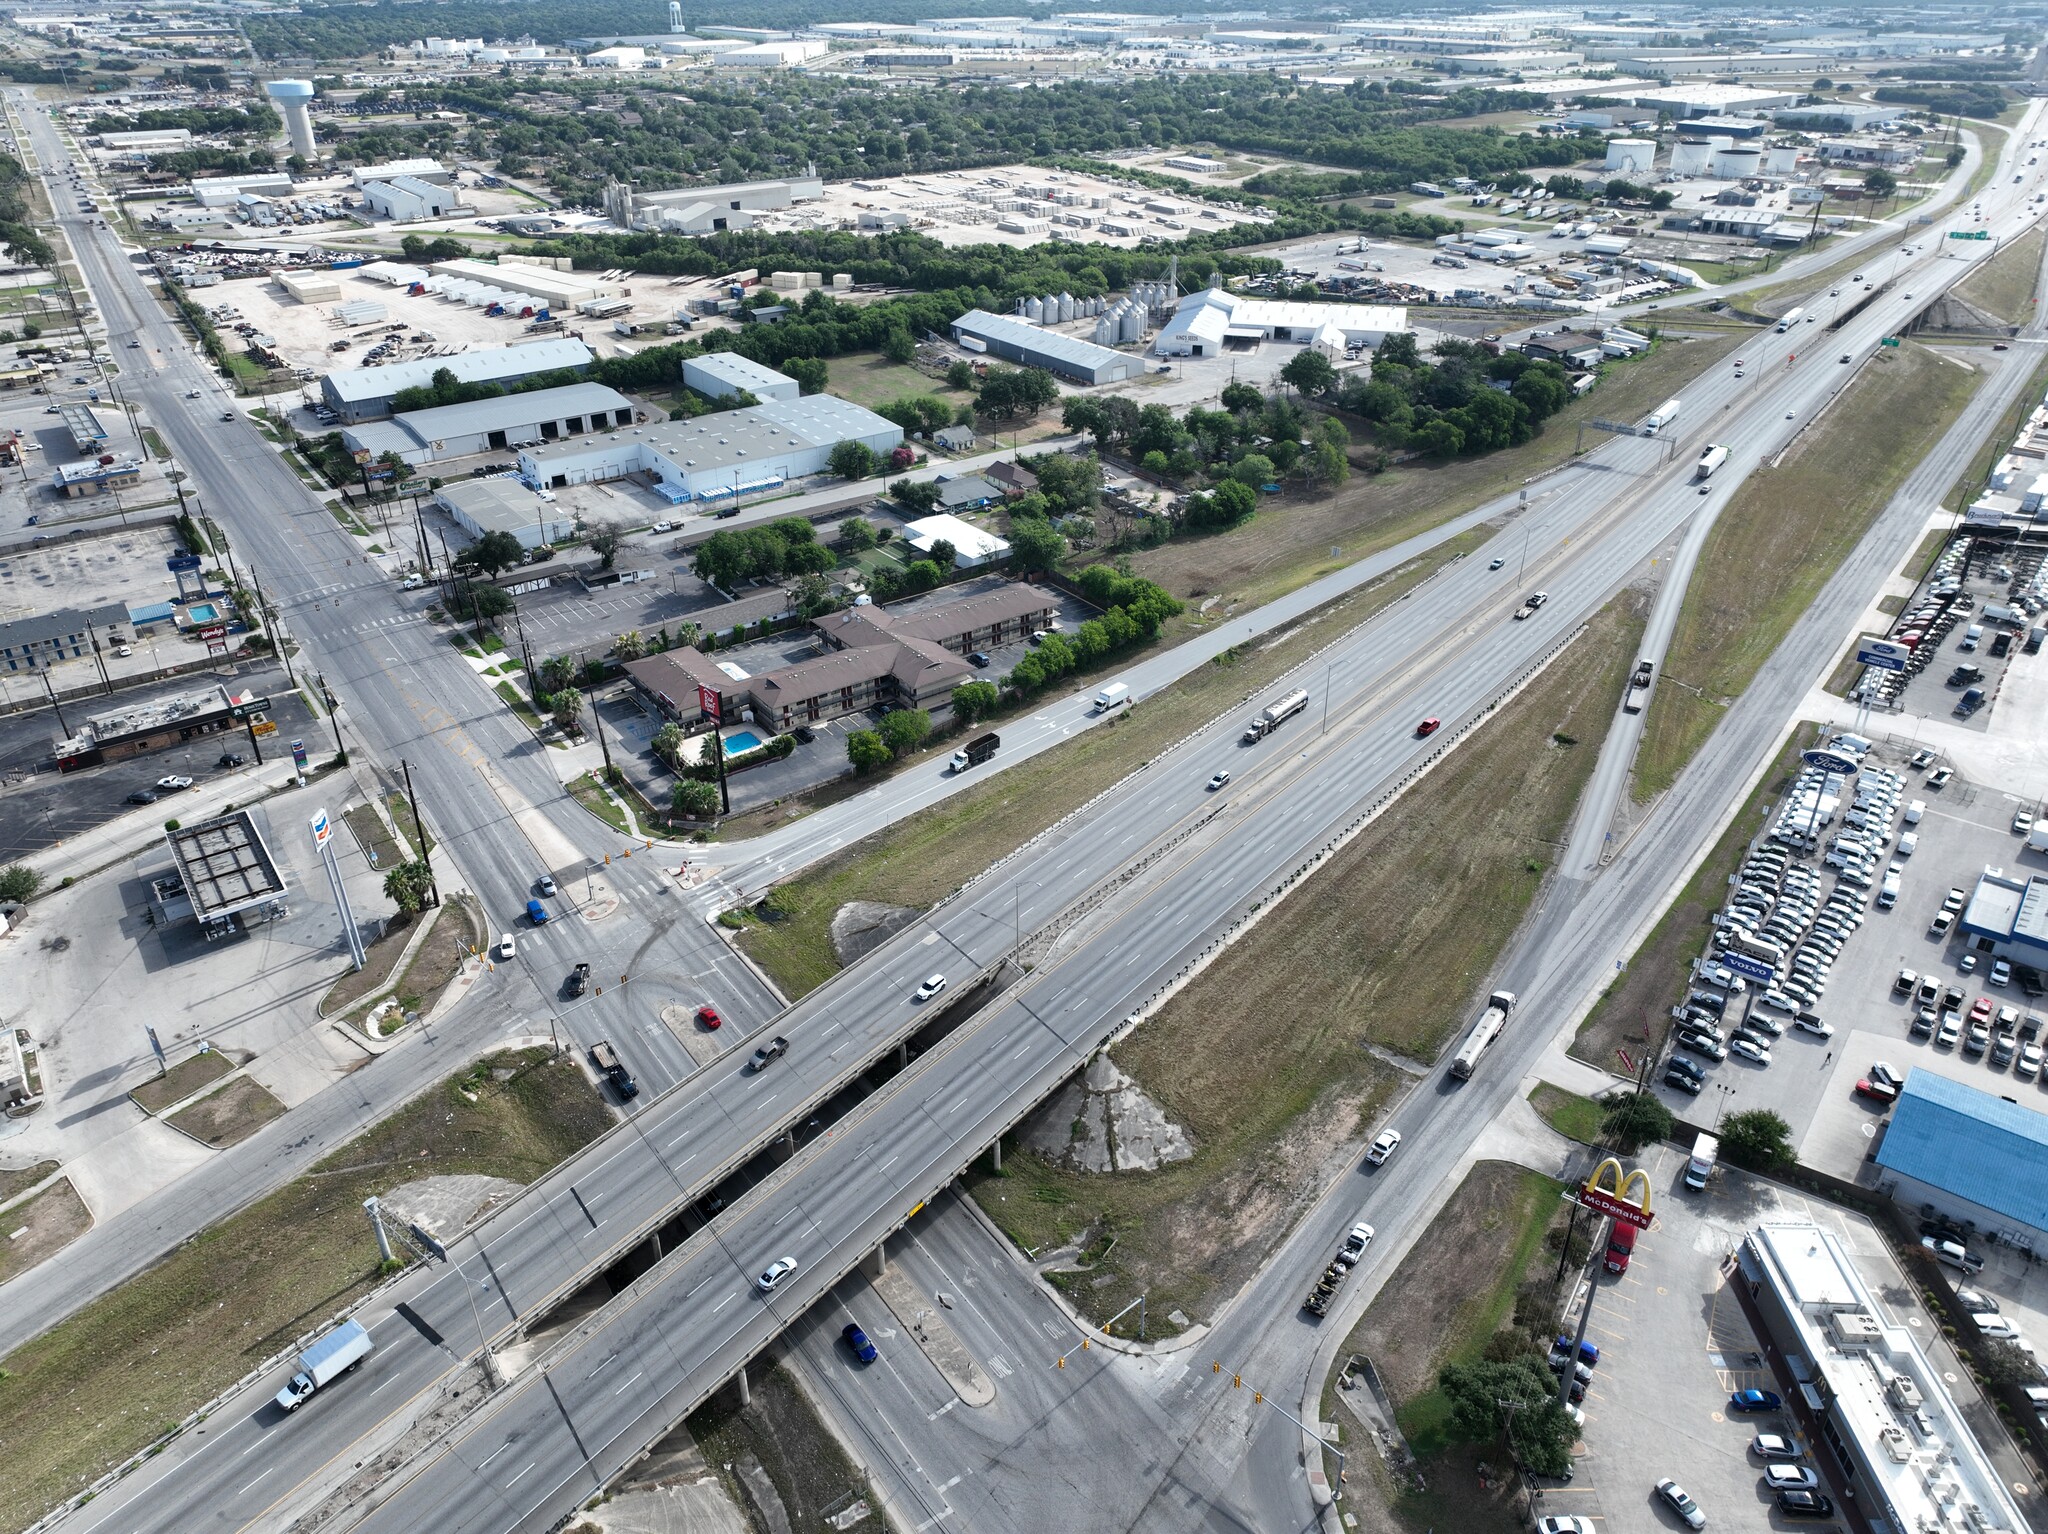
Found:
[{"label": "narrow grass strip between right frontage road and packed car dealership lot", "polygon": [[1798,770],[1800,750],[1810,743],[1810,733],[1800,733],[1763,774],[1757,791],[1749,795],[1714,850],[1706,854],[1706,862],[1671,901],[1671,909],[1663,913],[1642,946],[1628,956],[1628,969],[1579,1024],[1579,1036],[1571,1042],[1573,1055],[1589,1065],[1622,1071],[1614,1051],[1626,1049],[1634,1055],[1653,1040],[1663,1042],[1665,1014],[1673,1002],[1681,999],[1679,991],[1692,961],[1706,952],[1708,918],[1720,909],[1720,901],[1729,893],[1729,875],[1743,864],[1751,838],[1763,829],[1761,809],[1786,791]]}]

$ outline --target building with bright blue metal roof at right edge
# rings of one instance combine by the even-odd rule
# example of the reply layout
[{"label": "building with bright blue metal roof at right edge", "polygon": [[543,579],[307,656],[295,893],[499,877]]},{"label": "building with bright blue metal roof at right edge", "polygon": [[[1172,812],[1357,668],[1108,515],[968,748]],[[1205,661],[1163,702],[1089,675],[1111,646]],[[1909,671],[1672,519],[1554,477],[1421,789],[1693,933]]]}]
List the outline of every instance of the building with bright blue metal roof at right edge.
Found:
[{"label": "building with bright blue metal roof at right edge", "polygon": [[1907,1071],[1878,1147],[1884,1190],[1980,1231],[2048,1241],[2048,1114],[1933,1071]]}]

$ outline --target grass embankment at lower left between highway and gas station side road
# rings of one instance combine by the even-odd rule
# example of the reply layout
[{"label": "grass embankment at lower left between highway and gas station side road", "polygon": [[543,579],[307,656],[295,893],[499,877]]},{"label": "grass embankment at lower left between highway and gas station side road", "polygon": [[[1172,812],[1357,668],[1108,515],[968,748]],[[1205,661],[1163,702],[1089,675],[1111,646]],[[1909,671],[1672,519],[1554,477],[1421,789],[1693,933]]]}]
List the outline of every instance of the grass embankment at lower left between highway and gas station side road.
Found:
[{"label": "grass embankment at lower left between highway and gas station side road", "polygon": [[496,1055],[0,1360],[0,1522],[23,1528],[377,1282],[362,1200],[530,1182],[612,1122],[573,1061]]}]

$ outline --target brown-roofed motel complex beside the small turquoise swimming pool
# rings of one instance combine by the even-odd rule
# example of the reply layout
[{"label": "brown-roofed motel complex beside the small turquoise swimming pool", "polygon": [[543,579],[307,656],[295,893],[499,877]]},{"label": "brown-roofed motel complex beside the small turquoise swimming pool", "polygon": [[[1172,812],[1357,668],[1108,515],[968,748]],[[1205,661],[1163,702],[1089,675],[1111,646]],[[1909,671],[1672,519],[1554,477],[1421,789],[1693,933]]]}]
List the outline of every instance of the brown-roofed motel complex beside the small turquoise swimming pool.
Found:
[{"label": "brown-roofed motel complex beside the small turquoise swimming pool", "polygon": [[664,715],[692,723],[702,717],[700,688],[717,694],[721,719],[776,731],[866,709],[944,709],[952,688],[975,676],[965,655],[1044,629],[1057,610],[1051,592],[1026,584],[905,614],[860,604],[811,625],[825,653],[760,676],[694,647],[629,662],[627,676]]}]

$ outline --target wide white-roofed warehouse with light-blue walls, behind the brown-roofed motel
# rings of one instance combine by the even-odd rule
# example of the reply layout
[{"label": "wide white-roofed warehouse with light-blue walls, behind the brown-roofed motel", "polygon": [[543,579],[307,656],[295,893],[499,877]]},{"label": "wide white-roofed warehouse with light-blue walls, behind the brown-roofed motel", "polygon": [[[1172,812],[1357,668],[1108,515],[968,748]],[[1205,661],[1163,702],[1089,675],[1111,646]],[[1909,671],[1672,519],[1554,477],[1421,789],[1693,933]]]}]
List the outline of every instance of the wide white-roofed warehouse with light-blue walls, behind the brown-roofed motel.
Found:
[{"label": "wide white-roofed warehouse with light-blue walls, behind the brown-roofed motel", "polygon": [[645,473],[657,494],[682,504],[776,489],[791,479],[823,473],[840,442],[862,442],[874,453],[889,453],[901,440],[903,428],[895,422],[829,393],[815,393],[580,442],[530,446],[518,455],[518,465],[535,487]]}]

